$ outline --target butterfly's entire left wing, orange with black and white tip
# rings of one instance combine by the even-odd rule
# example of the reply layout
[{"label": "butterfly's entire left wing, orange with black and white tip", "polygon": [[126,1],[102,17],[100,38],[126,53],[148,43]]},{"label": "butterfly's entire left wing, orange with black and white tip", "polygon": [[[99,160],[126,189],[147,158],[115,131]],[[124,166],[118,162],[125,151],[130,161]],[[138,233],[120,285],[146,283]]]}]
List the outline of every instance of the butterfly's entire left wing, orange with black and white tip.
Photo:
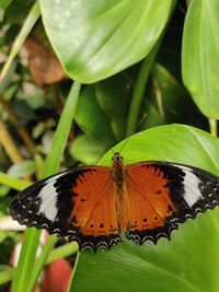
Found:
[{"label": "butterfly's entire left wing, orange with black and white tip", "polygon": [[9,212],[20,224],[68,236],[79,247],[111,247],[119,241],[115,199],[104,166],[78,167],[19,192]]}]

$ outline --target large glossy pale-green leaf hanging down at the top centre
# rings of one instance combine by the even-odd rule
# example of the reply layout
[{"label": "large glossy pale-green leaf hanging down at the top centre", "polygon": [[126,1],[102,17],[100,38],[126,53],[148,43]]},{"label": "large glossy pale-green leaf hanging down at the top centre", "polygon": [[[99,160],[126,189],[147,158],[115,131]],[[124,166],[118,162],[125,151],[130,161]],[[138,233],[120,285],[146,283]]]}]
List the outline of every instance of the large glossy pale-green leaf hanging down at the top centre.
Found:
[{"label": "large glossy pale-green leaf hanging down at the top centre", "polygon": [[91,83],[146,57],[173,0],[41,0],[44,25],[67,73]]}]

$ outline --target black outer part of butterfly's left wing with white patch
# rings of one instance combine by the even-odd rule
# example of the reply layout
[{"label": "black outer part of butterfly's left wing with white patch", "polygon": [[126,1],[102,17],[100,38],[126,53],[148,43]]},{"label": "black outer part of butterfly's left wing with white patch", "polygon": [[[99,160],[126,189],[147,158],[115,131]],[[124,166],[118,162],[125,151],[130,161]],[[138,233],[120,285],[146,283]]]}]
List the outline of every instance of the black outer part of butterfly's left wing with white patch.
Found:
[{"label": "black outer part of butterfly's left wing with white patch", "polygon": [[49,234],[67,236],[78,232],[68,221],[73,209],[76,179],[88,167],[72,168],[39,180],[19,192],[9,205],[9,214],[20,224],[45,229]]}]

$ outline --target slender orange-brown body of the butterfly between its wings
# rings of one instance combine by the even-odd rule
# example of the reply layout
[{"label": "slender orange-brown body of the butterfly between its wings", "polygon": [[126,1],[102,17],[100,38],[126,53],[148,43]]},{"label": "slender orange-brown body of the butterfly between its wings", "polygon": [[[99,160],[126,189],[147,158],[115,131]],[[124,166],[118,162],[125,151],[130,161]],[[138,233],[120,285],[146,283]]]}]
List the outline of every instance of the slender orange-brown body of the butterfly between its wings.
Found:
[{"label": "slender orange-brown body of the butterfly between its wings", "polygon": [[126,231],[129,219],[129,200],[126,187],[126,170],[123,163],[123,156],[118,153],[115,153],[113,156],[111,176],[115,194],[118,226],[122,231]]}]

